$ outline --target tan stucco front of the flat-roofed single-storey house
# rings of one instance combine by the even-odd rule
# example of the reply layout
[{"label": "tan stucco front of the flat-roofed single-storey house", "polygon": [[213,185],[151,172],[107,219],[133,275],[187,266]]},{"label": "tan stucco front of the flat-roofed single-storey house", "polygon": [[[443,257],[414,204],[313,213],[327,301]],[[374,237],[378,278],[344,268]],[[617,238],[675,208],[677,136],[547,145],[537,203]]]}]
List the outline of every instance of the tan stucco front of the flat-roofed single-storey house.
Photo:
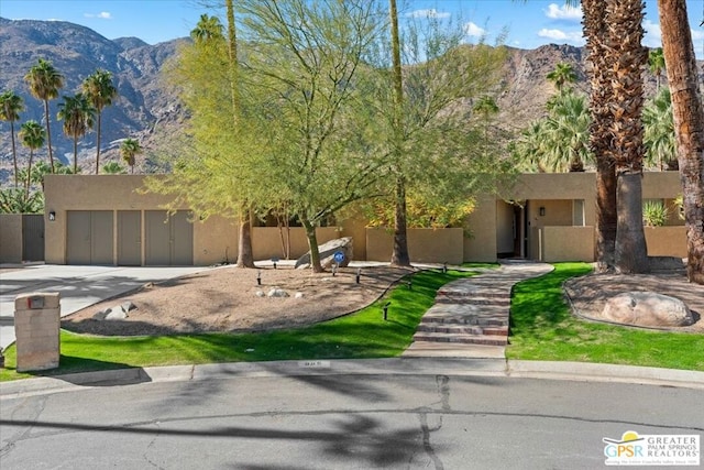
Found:
[{"label": "tan stucco front of the flat-roofed single-storey house", "polygon": [[[176,262],[207,265],[237,259],[234,220],[224,217],[200,220],[188,207],[179,208],[177,216],[169,218],[164,211],[169,201],[167,196],[138,192],[143,179],[142,175],[47,175],[45,261],[67,264],[92,255],[101,263],[121,264],[130,250],[132,260],[136,260],[131,262],[144,265]],[[476,209],[469,217],[469,233],[462,229],[409,230],[411,261],[493,262],[503,256],[547,262],[593,261],[595,187],[594,173],[520,175],[512,188],[502,189],[503,197],[477,198]],[[679,174],[646,173],[642,189],[644,199],[661,199],[671,206],[681,193]],[[81,223],[79,228],[73,227]],[[646,230],[649,254],[686,255],[684,227],[676,215],[670,217],[668,226]],[[366,228],[362,220],[320,228],[318,236],[321,243],[352,237],[356,260],[391,259],[391,232]],[[173,245],[172,258],[168,245]],[[253,229],[255,259],[283,259],[285,245],[290,247],[290,258],[305,253],[302,229],[292,228],[289,232],[275,227]],[[1,252],[6,251],[3,243]]]}]

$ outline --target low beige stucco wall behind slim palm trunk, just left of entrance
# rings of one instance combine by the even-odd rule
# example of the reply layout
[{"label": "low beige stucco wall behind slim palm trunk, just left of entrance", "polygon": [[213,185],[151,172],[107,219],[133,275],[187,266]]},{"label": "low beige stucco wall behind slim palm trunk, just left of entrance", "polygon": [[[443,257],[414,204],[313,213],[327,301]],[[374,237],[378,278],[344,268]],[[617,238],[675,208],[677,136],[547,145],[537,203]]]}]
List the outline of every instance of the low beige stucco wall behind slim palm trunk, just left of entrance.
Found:
[{"label": "low beige stucco wall behind slim palm trunk, just left of entrance", "polygon": [[[408,229],[408,255],[415,263],[461,264],[463,255],[463,229]],[[388,261],[394,248],[391,230],[366,230],[367,260]]]}]

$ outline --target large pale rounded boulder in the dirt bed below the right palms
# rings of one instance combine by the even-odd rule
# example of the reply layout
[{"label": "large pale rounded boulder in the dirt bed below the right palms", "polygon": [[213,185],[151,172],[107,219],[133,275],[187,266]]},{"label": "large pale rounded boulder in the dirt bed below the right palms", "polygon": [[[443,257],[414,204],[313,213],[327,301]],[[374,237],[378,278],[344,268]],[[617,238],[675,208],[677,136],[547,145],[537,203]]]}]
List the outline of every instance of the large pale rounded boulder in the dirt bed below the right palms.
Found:
[{"label": "large pale rounded boulder in the dirt bed below the right palms", "polygon": [[644,327],[685,327],[694,324],[692,311],[679,298],[653,292],[625,292],[606,300],[605,320]]}]

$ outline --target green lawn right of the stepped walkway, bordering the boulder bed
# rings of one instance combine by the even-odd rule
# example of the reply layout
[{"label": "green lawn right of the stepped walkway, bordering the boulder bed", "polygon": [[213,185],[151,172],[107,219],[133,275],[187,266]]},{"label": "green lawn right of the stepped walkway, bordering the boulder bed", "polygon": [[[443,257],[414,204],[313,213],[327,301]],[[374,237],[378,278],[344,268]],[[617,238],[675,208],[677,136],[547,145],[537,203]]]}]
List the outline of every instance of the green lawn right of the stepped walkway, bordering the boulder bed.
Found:
[{"label": "green lawn right of the stepped walkway, bordering the boulder bed", "polygon": [[704,335],[654,331],[573,317],[562,283],[591,272],[584,263],[559,263],[541,277],[516,285],[512,300],[509,359],[604,362],[704,371]]}]

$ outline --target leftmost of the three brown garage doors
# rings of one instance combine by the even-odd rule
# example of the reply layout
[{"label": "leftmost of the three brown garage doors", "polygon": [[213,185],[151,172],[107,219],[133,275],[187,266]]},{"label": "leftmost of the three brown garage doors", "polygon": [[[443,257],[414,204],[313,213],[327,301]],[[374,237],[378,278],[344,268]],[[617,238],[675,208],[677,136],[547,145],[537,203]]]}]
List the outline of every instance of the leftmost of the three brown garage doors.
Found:
[{"label": "leftmost of the three brown garage doors", "polygon": [[113,264],[112,210],[69,210],[66,223],[66,264]]}]

